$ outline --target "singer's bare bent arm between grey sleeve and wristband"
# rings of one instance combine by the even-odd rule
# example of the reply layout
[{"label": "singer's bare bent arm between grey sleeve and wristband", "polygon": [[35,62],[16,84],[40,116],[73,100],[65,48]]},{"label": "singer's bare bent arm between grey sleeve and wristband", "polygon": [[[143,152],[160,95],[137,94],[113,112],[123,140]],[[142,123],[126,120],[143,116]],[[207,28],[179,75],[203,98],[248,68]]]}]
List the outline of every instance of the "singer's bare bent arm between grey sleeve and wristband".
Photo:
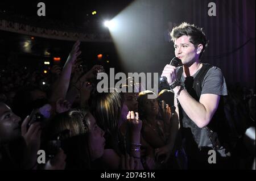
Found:
[{"label": "singer's bare bent arm between grey sleeve and wristband", "polygon": [[[180,86],[175,87],[175,95]],[[203,94],[197,102],[186,90],[182,90],[177,96],[179,103],[188,117],[200,128],[209,124],[212,116],[217,110],[220,96],[214,94]]]}]

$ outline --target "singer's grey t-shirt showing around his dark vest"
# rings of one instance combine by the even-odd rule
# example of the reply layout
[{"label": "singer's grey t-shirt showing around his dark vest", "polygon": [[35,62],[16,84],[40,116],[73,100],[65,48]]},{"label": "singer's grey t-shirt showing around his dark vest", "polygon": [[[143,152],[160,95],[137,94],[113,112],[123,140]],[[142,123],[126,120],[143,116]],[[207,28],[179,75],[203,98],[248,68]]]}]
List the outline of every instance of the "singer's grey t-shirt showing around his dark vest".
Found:
[{"label": "singer's grey t-shirt showing around his dark vest", "polygon": [[[177,68],[177,71],[182,68]],[[196,77],[196,75],[199,73],[200,69],[196,71],[195,74],[192,75],[192,77]],[[185,77],[182,74],[181,76],[181,82],[185,81]],[[210,68],[207,72],[207,74],[204,77],[204,80],[202,82],[202,91],[201,94],[216,94],[216,95],[228,95],[228,90],[226,87],[225,78],[222,74],[221,69],[217,68],[216,66],[213,66]],[[205,129],[201,129],[201,136],[199,141],[199,149],[201,147],[213,147],[212,143],[208,139],[207,132]],[[218,153],[221,154],[222,157],[226,157],[225,149],[220,148],[218,149]]]}]

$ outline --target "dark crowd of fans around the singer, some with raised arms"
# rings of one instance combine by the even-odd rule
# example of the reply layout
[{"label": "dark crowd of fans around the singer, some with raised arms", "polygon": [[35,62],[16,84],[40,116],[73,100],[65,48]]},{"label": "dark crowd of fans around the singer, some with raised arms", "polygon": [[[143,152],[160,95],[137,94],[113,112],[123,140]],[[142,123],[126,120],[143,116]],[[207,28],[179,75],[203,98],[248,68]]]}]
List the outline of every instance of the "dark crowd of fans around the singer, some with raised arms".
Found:
[{"label": "dark crowd of fans around the singer, some with raised arms", "polygon": [[[63,68],[53,65],[47,75],[1,71],[0,169],[186,169],[173,93],[162,90],[148,99],[154,92],[97,92],[96,76],[104,68],[85,72],[79,45]],[[255,128],[255,89],[234,85],[229,94],[245,129]],[[251,169],[255,140],[250,146],[245,132],[241,140],[238,166]],[[46,163],[38,163],[39,150],[46,151]]]}]

